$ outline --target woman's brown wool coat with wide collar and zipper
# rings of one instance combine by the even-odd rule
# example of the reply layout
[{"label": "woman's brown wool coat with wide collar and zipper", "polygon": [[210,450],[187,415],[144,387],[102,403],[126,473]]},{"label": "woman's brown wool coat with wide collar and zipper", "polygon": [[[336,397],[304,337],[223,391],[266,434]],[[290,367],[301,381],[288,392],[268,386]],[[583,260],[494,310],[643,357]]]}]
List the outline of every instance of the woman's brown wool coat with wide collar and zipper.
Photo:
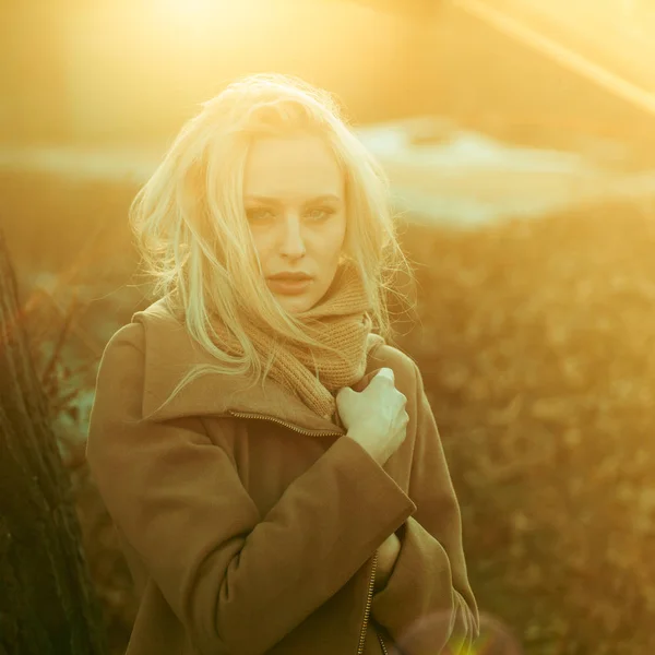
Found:
[{"label": "woman's brown wool coat with wide collar and zipper", "polygon": [[357,385],[390,367],[408,398],[381,467],[274,382],[209,374],[160,406],[203,361],[159,301],[100,362],[86,453],[140,598],[127,654],[434,655],[453,623],[469,642],[460,509],[416,365],[382,345]]}]

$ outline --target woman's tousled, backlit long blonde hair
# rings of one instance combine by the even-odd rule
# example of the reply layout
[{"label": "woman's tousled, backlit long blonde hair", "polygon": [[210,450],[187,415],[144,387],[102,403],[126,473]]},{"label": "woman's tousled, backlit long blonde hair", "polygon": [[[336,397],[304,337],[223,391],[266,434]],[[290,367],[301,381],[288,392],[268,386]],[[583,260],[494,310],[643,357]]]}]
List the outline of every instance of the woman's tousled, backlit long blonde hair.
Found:
[{"label": "woman's tousled, backlit long blonde hair", "polygon": [[[391,336],[385,296],[390,290],[402,296],[390,283],[401,270],[409,281],[413,275],[396,238],[385,174],[347,126],[330,93],[291,75],[247,75],[202,104],[130,207],[130,224],[145,270],[154,278],[155,296],[164,297],[167,308],[216,361],[191,371],[171,396],[210,371],[263,382],[275,354],[267,354],[265,360],[258,354],[243,314],[283,342],[326,348],[267,289],[242,199],[252,140],[298,131],[322,135],[343,169],[344,255],[361,275],[373,329],[385,338]],[[216,345],[212,315],[219,317],[241,354]]]}]

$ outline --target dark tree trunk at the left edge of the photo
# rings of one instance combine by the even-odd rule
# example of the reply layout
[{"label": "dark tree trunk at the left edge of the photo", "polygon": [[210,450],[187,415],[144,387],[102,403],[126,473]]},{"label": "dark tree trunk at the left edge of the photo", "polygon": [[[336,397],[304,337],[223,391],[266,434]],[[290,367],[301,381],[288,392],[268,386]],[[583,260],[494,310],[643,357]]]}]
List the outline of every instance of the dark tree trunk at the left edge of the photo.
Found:
[{"label": "dark tree trunk at the left edge of the photo", "polygon": [[106,653],[48,404],[0,233],[0,655]]}]

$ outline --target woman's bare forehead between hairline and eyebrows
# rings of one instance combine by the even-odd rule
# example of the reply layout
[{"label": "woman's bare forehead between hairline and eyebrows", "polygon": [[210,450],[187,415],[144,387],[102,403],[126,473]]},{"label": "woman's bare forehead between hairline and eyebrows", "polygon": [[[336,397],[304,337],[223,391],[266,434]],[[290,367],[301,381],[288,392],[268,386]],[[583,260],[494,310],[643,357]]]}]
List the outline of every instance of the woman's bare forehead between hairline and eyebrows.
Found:
[{"label": "woman's bare forehead between hairline and eyebrows", "polygon": [[295,202],[317,195],[343,198],[344,175],[320,136],[262,138],[246,160],[243,195],[265,195]]}]

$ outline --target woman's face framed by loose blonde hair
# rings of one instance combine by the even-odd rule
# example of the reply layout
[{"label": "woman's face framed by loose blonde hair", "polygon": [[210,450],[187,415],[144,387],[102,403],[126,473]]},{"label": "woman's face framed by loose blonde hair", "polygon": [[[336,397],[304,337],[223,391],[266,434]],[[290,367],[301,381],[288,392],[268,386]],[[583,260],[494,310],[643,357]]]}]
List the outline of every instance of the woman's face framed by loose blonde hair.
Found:
[{"label": "woman's face framed by loose blonde hair", "polygon": [[[272,294],[290,313],[311,309],[334,279],[346,234],[344,176],[326,143],[309,133],[254,142],[243,204]],[[303,278],[272,278],[285,274]]]}]

